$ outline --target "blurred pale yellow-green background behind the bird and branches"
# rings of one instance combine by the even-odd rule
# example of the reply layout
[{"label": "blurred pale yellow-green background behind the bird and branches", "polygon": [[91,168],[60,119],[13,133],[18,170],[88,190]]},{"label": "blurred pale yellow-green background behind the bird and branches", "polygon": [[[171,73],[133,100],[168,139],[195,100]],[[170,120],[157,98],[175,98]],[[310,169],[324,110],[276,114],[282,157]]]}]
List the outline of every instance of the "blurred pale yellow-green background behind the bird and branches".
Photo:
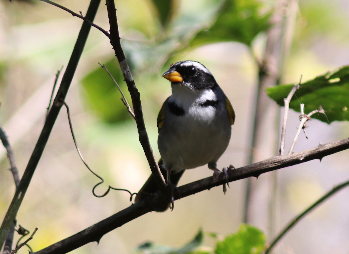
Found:
[{"label": "blurred pale yellow-green background behind the bird and branches", "polygon": [[[171,9],[163,11],[159,2],[115,1],[122,46],[141,93],[146,127],[156,157],[159,158],[156,117],[163,101],[171,94],[170,84],[161,74],[171,63],[195,60],[213,73],[236,112],[231,141],[218,167],[233,164],[238,168],[248,164],[258,82],[258,66],[252,55],[259,58],[263,55],[266,28],[260,27],[260,32],[248,41],[251,47],[246,46],[248,43],[242,37],[234,38],[235,35],[208,40],[205,29],[222,14],[220,7],[224,1],[171,1]],[[58,3],[83,14],[88,7],[88,1],[82,0]],[[274,1],[258,2],[256,8],[261,22],[269,18],[273,5]],[[306,81],[348,64],[348,1],[300,0],[295,14],[293,40],[285,58],[282,83],[298,83],[301,75]],[[103,1],[95,23],[109,31]],[[0,1],[0,123],[14,149],[20,175],[44,124],[55,74],[62,66],[64,72],[81,24],[82,20],[77,17],[44,2]],[[201,37],[195,37],[197,33]],[[135,122],[98,62],[105,64],[124,93],[128,92],[109,39],[92,28],[66,98],[76,139],[87,163],[106,179],[97,193],[104,193],[107,185],[137,192],[150,169],[138,141]],[[298,113],[291,111],[286,152],[298,124]],[[275,126],[272,116],[266,125]],[[313,120],[306,129],[309,139],[301,134],[295,151],[347,137],[348,127],[347,122],[328,125]],[[275,135],[275,128],[265,131],[268,140],[258,151],[260,160],[277,154],[277,145],[269,139]],[[8,168],[6,150],[0,146],[1,220],[15,191]],[[179,185],[211,174],[206,166],[187,170]],[[268,223],[270,174],[253,179],[250,221],[261,228],[269,240],[296,214],[334,185],[348,179],[348,151],[327,156],[321,163],[317,160],[278,170],[275,232],[271,233]],[[18,224],[29,231],[38,227],[30,241],[34,251],[130,205],[129,195],[124,192],[111,191],[106,197],[94,197],[91,190],[98,181],[75,150],[67,114],[62,108],[17,215]],[[148,213],[106,234],[98,246],[90,243],[72,253],[126,254],[146,241],[179,247],[190,241],[200,228],[222,235],[236,232],[243,218],[245,185],[246,180],[232,182],[225,196],[219,187],[178,200],[172,212]],[[349,190],[344,189],[303,219],[282,240],[277,253],[348,253],[348,196]],[[212,247],[214,241],[206,237],[205,245]],[[26,251],[23,248],[20,253]]]}]

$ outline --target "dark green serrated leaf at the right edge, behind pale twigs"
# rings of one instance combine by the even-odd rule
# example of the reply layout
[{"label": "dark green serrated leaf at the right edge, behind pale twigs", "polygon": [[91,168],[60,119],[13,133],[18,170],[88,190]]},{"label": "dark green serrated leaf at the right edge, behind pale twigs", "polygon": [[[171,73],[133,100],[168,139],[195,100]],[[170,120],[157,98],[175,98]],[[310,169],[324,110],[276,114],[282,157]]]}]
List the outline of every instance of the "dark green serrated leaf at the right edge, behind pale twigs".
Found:
[{"label": "dark green serrated leaf at the right edge, behind pale twigs", "polygon": [[[283,99],[288,96],[292,86],[289,84],[269,87],[268,96],[277,104],[284,106]],[[348,121],[349,66],[343,66],[334,72],[327,72],[302,83],[290,101],[290,108],[300,112],[300,103],[304,104],[304,113],[318,109],[320,105],[324,108],[327,117],[323,114],[314,114],[312,118],[328,124],[333,121]]]}]

